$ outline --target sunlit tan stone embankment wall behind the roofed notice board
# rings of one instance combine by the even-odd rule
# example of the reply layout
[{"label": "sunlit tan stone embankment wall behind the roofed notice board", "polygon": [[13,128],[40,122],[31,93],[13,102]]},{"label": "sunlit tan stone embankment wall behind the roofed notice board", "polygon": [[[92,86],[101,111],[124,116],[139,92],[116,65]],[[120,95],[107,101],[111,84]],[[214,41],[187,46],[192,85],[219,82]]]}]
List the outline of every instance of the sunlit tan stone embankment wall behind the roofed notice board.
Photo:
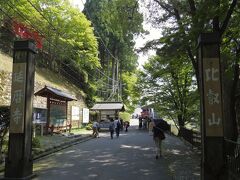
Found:
[{"label": "sunlit tan stone embankment wall behind the roofed notice board", "polygon": [[[0,88],[0,106],[10,105],[12,62],[12,57],[0,52],[0,84],[3,87],[2,89]],[[48,69],[36,68],[34,92],[37,92],[45,85],[60,89],[77,98],[77,101],[71,101],[68,103],[68,119],[71,117],[70,114],[72,106],[79,107],[80,114],[82,112],[81,109],[86,107],[86,104],[84,102],[85,94],[81,89],[69,83],[64,77],[59,74],[53,73]],[[46,108],[46,98],[35,96],[33,103],[34,107]]]}]

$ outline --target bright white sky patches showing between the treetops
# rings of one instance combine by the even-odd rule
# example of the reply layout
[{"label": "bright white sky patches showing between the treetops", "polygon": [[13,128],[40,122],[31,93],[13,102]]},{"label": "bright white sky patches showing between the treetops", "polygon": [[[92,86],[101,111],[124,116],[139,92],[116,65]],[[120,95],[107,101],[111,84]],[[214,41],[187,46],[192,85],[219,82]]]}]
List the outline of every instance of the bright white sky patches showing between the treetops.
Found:
[{"label": "bright white sky patches showing between the treetops", "polygon": [[[70,2],[73,4],[73,6],[77,6],[81,11],[83,10],[83,3],[86,2],[86,0],[70,0]],[[141,2],[141,1],[140,1]],[[144,44],[147,41],[153,40],[153,39],[159,39],[161,36],[161,32],[159,29],[155,29],[151,27],[151,24],[147,23],[146,16],[147,16],[147,10],[143,6],[140,5],[140,11],[144,14],[144,22],[143,22],[143,28],[147,31],[149,31],[148,35],[145,35],[144,37],[139,36],[135,38],[136,45],[135,48],[138,49],[140,47],[143,47]],[[147,61],[149,57],[152,55],[155,55],[155,51],[149,50],[147,53],[139,53],[138,54],[138,68],[142,68],[142,65]]]}]

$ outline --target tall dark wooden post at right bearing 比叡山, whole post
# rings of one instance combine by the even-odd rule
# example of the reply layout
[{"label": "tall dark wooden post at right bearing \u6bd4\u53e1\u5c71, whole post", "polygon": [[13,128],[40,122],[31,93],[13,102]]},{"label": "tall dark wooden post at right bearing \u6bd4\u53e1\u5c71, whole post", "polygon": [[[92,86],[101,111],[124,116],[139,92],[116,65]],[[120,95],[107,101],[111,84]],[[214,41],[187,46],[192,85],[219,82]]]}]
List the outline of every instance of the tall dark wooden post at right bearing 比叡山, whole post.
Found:
[{"label": "tall dark wooden post at right bearing \u6bd4\u53e1\u5c71, whole post", "polygon": [[203,33],[199,37],[203,180],[226,179],[219,44],[218,33]]}]

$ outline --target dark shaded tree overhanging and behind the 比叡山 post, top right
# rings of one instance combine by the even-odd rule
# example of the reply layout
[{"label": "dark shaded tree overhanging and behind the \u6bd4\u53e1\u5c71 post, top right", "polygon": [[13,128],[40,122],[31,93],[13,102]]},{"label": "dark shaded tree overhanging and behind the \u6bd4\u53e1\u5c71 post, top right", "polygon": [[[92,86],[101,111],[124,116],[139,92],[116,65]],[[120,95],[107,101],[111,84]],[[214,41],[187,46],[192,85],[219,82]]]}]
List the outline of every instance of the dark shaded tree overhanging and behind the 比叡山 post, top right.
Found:
[{"label": "dark shaded tree overhanging and behind the \u6bd4\u53e1\u5c71 post, top right", "polygon": [[[220,34],[221,55],[223,63],[223,92],[224,114],[226,122],[225,136],[236,138],[235,92],[237,91],[237,67],[239,63],[239,38],[236,27],[239,24],[239,13],[236,9],[237,0],[231,1],[200,1],[200,0],[153,0],[148,3],[150,10],[149,20],[163,29],[163,38],[160,41],[148,43],[147,47],[171,46],[178,44],[184,51],[175,53],[186,56],[192,63],[199,86],[199,68],[197,54],[197,39],[201,32],[218,32]],[[234,50],[231,47],[234,46]],[[235,57],[234,57],[235,56]],[[232,58],[226,58],[232,57]],[[232,61],[234,60],[235,61]],[[235,63],[235,65],[233,65]],[[234,69],[234,70],[232,70]],[[229,88],[230,87],[230,88]]]}]

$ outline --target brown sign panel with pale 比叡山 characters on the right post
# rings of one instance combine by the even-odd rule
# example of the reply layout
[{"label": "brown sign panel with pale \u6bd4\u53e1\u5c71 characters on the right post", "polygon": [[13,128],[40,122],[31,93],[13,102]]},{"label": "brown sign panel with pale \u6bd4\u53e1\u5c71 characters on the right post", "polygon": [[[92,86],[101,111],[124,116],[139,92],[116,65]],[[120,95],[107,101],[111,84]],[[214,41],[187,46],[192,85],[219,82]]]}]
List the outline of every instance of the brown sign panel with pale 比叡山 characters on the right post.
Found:
[{"label": "brown sign panel with pale \u6bd4\u53e1\u5c71 characters on the right post", "polygon": [[219,58],[203,58],[206,136],[223,136]]}]

